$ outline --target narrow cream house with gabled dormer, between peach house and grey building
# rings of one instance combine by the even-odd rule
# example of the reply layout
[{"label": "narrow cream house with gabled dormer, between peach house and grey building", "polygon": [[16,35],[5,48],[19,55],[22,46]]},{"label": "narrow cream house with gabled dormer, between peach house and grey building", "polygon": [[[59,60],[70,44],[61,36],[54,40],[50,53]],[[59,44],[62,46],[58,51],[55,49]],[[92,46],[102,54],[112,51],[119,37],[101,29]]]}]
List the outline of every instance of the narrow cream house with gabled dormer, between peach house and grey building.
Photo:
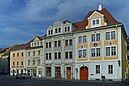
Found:
[{"label": "narrow cream house with gabled dormer, between peach house and grey building", "polygon": [[43,77],[43,38],[36,36],[26,48],[27,73],[32,77]]}]

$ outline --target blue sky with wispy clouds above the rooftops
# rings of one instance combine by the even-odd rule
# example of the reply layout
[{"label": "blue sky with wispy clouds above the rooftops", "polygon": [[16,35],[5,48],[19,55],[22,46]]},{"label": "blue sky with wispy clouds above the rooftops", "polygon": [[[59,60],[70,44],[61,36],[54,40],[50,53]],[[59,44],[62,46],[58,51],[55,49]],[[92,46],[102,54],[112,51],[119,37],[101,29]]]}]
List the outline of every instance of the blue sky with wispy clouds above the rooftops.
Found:
[{"label": "blue sky with wispy clouds above the rooftops", "polygon": [[42,36],[57,19],[77,22],[102,4],[129,34],[129,0],[0,0],[0,48]]}]

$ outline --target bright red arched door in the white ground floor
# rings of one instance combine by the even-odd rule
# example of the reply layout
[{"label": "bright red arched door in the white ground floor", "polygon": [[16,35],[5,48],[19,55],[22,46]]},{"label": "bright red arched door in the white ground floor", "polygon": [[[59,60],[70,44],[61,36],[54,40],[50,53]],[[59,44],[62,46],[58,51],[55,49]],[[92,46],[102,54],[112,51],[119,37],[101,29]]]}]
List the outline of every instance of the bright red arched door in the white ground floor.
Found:
[{"label": "bright red arched door in the white ground floor", "polygon": [[80,68],[80,80],[88,80],[88,67]]}]

